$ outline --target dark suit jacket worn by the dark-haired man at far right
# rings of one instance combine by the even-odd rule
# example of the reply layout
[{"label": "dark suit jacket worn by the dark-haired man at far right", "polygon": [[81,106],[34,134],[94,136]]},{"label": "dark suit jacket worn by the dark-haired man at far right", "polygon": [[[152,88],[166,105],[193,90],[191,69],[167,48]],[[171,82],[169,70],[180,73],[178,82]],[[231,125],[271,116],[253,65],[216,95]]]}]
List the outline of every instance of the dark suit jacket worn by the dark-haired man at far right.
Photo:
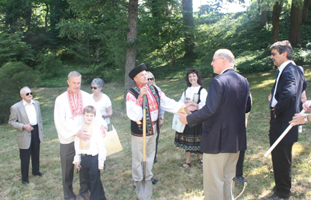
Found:
[{"label": "dark suit jacket worn by the dark-haired man at far right", "polygon": [[[270,132],[278,137],[288,128],[289,121],[295,113],[301,112],[301,93],[308,87],[303,70],[299,66],[289,63],[279,75],[279,82],[275,90],[275,99],[278,101],[274,114],[279,123],[279,132]],[[294,126],[281,140],[281,143],[294,143],[298,141],[298,127]]]}]

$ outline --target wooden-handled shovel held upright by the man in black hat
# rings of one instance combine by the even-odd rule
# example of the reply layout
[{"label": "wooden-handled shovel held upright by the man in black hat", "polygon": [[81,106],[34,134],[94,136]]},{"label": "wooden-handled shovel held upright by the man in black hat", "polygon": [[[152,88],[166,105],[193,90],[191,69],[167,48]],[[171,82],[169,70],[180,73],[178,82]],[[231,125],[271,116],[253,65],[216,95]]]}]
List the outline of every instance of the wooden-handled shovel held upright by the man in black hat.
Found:
[{"label": "wooden-handled shovel held upright by the man in black hat", "polygon": [[152,181],[146,181],[146,94],[142,100],[142,181],[136,183],[136,194],[138,199],[151,199]]}]

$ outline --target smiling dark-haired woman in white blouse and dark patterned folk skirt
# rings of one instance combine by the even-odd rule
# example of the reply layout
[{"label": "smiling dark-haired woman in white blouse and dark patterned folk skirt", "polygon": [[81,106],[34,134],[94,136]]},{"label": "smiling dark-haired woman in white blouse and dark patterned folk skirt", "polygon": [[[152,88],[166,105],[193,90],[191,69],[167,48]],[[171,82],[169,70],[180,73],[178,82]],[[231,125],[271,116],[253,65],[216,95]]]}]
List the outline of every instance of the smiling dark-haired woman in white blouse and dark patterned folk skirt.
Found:
[{"label": "smiling dark-haired woman in white blouse and dark patterned folk skirt", "polygon": [[[207,97],[207,90],[202,88],[202,79],[199,70],[190,69],[186,74],[186,81],[188,88],[182,92],[180,103],[185,103],[191,112],[196,112],[203,106]],[[180,168],[191,167],[191,153],[196,153],[198,163],[202,166],[202,157],[200,152],[200,141],[202,137],[202,123],[196,126],[185,126],[183,132],[176,132],[175,145],[183,148],[186,151],[186,162]]]}]

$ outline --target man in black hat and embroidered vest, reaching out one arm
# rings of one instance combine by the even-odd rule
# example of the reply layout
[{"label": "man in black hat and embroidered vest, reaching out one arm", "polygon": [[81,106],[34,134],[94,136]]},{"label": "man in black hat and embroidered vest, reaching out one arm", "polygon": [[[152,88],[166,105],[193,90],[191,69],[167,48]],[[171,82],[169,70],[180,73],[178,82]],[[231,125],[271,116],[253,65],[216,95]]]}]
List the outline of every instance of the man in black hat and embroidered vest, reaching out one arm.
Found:
[{"label": "man in black hat and embroidered vest, reaching out one arm", "polygon": [[154,86],[147,85],[147,67],[144,63],[129,72],[129,77],[136,82],[126,94],[126,114],[131,119],[131,148],[132,148],[132,176],[133,180],[142,181],[142,97],[147,96],[146,106],[146,177],[145,180],[152,179],[151,172],[153,159],[156,152],[156,137],[160,131],[160,108],[165,111],[177,113],[182,108],[182,103],[177,103],[169,99],[165,94],[157,90]]}]

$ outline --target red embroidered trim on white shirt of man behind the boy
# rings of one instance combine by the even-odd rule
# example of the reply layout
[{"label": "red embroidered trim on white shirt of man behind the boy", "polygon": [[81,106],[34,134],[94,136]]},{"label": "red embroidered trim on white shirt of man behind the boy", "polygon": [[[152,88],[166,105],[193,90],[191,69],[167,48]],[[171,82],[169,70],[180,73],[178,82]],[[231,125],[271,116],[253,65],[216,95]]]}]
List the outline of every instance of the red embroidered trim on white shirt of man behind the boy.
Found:
[{"label": "red embroidered trim on white shirt of man behind the boy", "polygon": [[83,115],[83,98],[82,98],[82,92],[77,92],[77,105],[75,105],[75,100],[73,97],[73,92],[67,89],[67,97],[68,97],[68,103],[70,106],[70,112],[71,117],[70,119],[74,119],[75,117],[82,116]]}]

